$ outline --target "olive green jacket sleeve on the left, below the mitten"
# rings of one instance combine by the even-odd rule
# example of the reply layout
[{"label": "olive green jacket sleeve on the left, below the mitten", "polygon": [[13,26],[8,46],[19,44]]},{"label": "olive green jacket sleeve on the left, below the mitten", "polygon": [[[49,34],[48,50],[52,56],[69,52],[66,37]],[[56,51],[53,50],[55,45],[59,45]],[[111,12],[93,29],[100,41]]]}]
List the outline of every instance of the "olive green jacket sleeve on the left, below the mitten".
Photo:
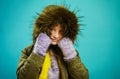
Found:
[{"label": "olive green jacket sleeve on the left, below the mitten", "polygon": [[[37,79],[39,77],[44,58],[29,50],[30,47],[27,47],[22,51],[16,71],[18,79]],[[28,53],[30,53],[29,56]]]}]

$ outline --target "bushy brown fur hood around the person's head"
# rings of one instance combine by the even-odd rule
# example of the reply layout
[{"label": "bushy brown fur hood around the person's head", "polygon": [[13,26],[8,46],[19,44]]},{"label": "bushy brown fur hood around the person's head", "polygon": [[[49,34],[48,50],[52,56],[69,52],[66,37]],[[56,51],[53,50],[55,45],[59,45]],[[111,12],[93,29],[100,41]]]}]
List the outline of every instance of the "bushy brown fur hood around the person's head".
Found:
[{"label": "bushy brown fur hood around the person's head", "polygon": [[73,11],[64,6],[48,5],[35,21],[33,42],[39,33],[50,35],[50,28],[60,24],[64,29],[63,36],[69,37],[73,42],[79,32],[78,18]]}]

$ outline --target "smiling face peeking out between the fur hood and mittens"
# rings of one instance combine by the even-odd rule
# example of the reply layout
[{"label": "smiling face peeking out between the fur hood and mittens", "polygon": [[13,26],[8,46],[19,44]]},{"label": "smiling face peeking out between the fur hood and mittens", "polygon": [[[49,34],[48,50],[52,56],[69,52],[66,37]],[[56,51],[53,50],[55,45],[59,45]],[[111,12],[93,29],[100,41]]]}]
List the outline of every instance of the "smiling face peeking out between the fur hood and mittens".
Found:
[{"label": "smiling face peeking out between the fur hood and mittens", "polygon": [[60,24],[52,27],[50,29],[50,33],[51,33],[50,38],[52,40],[53,45],[56,45],[63,37],[63,31]]}]

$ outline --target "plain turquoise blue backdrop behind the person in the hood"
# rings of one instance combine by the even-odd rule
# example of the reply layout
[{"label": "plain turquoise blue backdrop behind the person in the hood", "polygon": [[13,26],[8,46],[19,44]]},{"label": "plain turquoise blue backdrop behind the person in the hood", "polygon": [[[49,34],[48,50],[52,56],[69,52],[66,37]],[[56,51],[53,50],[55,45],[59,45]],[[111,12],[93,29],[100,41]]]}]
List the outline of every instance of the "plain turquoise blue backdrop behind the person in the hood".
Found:
[{"label": "plain turquoise blue backdrop behind the person in the hood", "polygon": [[[120,0],[64,1],[85,16],[75,48],[90,79],[120,79]],[[32,43],[36,12],[64,1],[0,0],[0,79],[16,79],[21,50]]]}]

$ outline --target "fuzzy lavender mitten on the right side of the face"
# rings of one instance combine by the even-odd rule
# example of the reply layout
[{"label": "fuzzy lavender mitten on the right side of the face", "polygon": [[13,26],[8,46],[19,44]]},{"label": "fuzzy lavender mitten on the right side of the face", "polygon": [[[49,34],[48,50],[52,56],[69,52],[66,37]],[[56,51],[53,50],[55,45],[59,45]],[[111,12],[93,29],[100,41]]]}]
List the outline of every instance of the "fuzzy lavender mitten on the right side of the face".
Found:
[{"label": "fuzzy lavender mitten on the right side of the face", "polygon": [[58,46],[63,51],[63,56],[65,60],[72,59],[77,55],[77,52],[73,47],[73,43],[69,38],[65,37],[62,40],[60,40]]}]

